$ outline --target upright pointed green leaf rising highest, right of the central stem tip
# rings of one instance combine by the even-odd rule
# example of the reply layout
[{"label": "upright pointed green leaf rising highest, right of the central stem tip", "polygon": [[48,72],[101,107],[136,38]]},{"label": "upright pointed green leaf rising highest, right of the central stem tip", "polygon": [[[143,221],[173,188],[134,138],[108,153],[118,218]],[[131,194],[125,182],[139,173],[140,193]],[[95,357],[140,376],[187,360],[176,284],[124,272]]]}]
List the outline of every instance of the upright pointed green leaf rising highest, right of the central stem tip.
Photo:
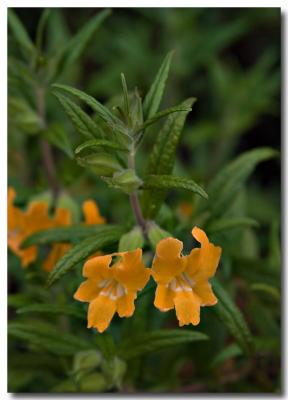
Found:
[{"label": "upright pointed green leaf rising highest, right of the central stem tip", "polygon": [[154,82],[145,96],[143,102],[143,114],[145,119],[153,117],[153,115],[158,111],[165,90],[172,56],[173,51],[170,51],[166,55],[159,71],[157,72]]}]

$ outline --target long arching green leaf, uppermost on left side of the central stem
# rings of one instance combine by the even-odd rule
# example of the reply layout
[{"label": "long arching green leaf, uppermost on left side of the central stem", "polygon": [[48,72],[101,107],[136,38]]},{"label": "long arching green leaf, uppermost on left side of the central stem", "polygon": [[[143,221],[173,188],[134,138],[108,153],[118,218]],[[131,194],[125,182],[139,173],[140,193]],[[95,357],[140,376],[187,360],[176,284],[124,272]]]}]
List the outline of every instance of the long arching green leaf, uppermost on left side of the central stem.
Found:
[{"label": "long arching green leaf, uppermost on left side of the central stem", "polygon": [[84,93],[79,89],[67,85],[54,83],[52,87],[54,90],[62,90],[82,100],[85,104],[91,107],[92,110],[94,110],[99,117],[102,118],[114,131],[128,135],[122,121],[117,118],[116,115],[114,115],[107,107],[103,106],[98,100],[94,99],[94,97],[89,96],[89,94]]}]

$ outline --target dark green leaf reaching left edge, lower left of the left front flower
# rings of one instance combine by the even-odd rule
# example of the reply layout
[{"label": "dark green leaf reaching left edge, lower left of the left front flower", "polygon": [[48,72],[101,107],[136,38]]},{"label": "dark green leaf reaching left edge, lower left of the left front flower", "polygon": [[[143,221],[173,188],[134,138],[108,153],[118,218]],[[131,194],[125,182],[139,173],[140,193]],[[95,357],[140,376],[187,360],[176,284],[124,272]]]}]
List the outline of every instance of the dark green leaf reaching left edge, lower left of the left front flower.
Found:
[{"label": "dark green leaf reaching left edge, lower left of the left front flower", "polygon": [[44,321],[11,322],[8,334],[57,355],[73,355],[91,347],[89,342]]}]

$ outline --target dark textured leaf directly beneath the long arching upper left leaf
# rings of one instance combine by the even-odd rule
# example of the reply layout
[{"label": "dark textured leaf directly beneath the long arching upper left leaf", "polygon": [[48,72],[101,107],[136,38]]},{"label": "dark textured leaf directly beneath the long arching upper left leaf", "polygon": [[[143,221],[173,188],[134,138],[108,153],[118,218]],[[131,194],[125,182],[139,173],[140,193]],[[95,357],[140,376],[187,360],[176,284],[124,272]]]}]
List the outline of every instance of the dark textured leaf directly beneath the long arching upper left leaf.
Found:
[{"label": "dark textured leaf directly beneath the long arching upper left leaf", "polygon": [[97,127],[92,118],[86,114],[81,107],[75,104],[67,96],[63,96],[57,92],[52,92],[54,96],[59,100],[68,118],[71,120],[75,129],[80,133],[80,135],[85,138],[91,139],[101,138],[103,133],[100,128]]}]

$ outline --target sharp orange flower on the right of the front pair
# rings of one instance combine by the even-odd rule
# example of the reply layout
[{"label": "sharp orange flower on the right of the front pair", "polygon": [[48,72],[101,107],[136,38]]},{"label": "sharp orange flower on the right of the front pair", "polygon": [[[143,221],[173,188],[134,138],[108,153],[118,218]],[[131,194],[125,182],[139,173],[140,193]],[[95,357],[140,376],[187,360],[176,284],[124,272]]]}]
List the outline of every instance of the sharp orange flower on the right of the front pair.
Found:
[{"label": "sharp orange flower on the right of the front pair", "polygon": [[157,282],[154,305],[161,311],[175,307],[179,325],[200,322],[200,306],[212,306],[217,299],[209,279],[214,276],[221,247],[209,242],[201,229],[194,227],[194,238],[201,248],[181,256],[183,243],[172,237],[160,240],[152,265],[152,276]]}]

